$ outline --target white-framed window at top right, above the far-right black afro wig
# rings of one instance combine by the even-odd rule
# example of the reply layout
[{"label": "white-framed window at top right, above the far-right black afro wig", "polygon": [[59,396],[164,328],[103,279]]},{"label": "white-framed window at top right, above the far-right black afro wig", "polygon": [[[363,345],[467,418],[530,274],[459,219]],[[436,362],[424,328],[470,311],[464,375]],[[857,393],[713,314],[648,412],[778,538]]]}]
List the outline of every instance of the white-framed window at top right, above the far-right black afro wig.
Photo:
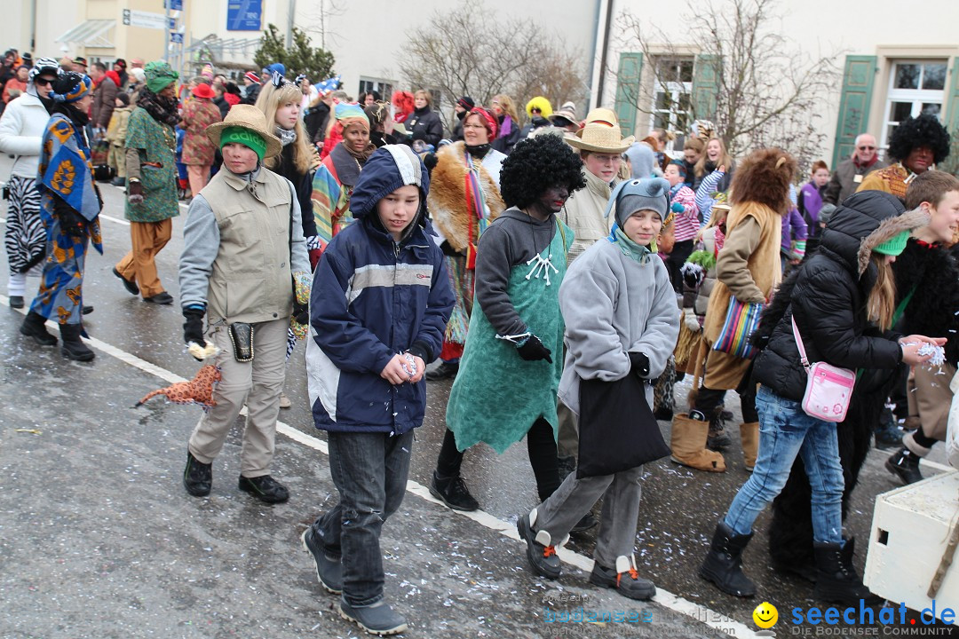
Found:
[{"label": "white-framed window at top right, above the far-right black afro wig", "polygon": [[907,118],[927,113],[942,120],[946,67],[946,59],[901,60],[893,64],[886,94],[882,148],[889,147],[893,130]]}]

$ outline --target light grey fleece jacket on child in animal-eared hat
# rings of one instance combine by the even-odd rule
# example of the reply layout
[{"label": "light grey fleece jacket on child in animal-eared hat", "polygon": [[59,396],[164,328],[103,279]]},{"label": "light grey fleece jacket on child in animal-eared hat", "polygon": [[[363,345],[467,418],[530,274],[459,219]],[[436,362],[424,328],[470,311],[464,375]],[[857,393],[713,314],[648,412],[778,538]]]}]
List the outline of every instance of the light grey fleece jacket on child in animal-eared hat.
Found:
[{"label": "light grey fleece jacket on child in animal-eared hat", "polygon": [[[559,287],[567,348],[559,399],[579,414],[579,380],[630,374],[629,353],[649,358],[649,379],[663,375],[679,337],[679,306],[657,255],[640,263],[599,240],[566,272]],[[652,388],[646,389],[652,406]]]}]

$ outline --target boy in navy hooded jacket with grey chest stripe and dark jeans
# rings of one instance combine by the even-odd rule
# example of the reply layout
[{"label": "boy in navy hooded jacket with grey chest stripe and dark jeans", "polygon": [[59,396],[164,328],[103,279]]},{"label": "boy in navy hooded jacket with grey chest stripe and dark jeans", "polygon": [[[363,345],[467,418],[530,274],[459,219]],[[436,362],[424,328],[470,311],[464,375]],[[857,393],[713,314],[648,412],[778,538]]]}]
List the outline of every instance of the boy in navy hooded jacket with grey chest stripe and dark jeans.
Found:
[{"label": "boy in navy hooded jacket with grey chest stripe and dark jeans", "polygon": [[426,362],[439,354],[454,297],[428,237],[430,178],[404,145],[379,148],[350,199],[356,221],[327,246],[310,300],[307,373],[328,432],[339,503],[303,533],[339,612],[373,634],[406,620],[383,598],[380,531],[403,501],[413,428],[426,409]]}]

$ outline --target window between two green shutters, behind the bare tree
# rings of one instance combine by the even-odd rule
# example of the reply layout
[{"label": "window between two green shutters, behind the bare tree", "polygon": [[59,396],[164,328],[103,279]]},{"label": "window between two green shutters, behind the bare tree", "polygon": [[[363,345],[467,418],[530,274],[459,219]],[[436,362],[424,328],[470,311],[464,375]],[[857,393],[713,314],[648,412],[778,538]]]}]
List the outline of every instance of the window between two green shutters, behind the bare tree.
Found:
[{"label": "window between two green shutters, behind the bare tree", "polygon": [[686,144],[686,132],[692,125],[692,57],[659,57],[656,79],[653,80],[653,103],[649,119],[650,132],[665,128],[676,134],[667,142],[667,154],[679,157]]}]

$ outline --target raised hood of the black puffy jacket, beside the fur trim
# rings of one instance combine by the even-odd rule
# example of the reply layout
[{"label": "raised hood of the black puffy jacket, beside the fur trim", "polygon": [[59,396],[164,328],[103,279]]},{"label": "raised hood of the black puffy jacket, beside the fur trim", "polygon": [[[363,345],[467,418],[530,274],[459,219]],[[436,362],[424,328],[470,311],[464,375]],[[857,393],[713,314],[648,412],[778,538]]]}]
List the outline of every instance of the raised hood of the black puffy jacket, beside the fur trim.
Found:
[{"label": "raised hood of the black puffy jacket, beside the fur trim", "polygon": [[859,247],[863,240],[879,228],[882,220],[901,216],[904,211],[895,195],[881,191],[853,194],[830,217],[820,246],[836,254],[851,272],[859,273]]}]

